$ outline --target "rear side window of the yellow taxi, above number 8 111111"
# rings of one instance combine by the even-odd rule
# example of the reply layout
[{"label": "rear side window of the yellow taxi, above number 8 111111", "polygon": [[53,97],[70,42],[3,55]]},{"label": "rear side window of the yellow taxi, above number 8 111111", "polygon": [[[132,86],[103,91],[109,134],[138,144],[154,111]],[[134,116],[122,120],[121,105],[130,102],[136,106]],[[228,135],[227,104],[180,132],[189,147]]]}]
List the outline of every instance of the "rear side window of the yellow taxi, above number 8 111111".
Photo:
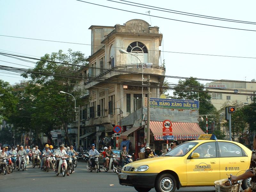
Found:
[{"label": "rear side window of the yellow taxi, above number 8 111111", "polygon": [[234,143],[219,142],[221,157],[241,157],[242,149]]}]

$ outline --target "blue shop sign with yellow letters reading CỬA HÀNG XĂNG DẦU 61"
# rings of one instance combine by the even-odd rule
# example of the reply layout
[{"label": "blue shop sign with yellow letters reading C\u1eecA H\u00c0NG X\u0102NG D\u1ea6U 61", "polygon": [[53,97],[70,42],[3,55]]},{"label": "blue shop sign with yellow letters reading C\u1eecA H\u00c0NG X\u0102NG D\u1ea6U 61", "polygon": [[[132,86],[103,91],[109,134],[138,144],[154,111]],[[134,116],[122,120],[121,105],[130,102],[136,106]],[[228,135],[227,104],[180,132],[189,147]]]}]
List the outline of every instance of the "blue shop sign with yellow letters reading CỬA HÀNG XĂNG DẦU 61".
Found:
[{"label": "blue shop sign with yellow letters reading C\u1eecA H\u00c0NG X\u0102NG D\u1ea6U 61", "polygon": [[[150,98],[150,107],[176,108],[176,109],[199,109],[199,101],[182,99]],[[144,107],[147,107],[147,98],[144,98]]]}]

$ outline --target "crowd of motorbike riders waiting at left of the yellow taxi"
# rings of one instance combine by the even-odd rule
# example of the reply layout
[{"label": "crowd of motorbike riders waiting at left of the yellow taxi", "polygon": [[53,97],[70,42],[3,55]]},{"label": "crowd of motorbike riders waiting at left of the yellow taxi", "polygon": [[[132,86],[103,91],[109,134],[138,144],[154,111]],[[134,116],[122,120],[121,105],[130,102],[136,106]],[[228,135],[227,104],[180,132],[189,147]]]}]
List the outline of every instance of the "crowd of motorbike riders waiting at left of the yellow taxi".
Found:
[{"label": "crowd of motorbike riders waiting at left of the yellow taxi", "polygon": [[[32,167],[41,168],[44,171],[49,172],[52,169],[56,175],[60,173],[65,176],[69,176],[74,173],[74,168],[77,165],[77,159],[82,158],[87,162],[86,168],[90,172],[101,172],[99,166],[99,156],[103,156],[103,169],[105,172],[113,170],[117,174],[121,172],[124,164],[132,162],[132,156],[128,155],[126,146],[120,150],[120,159],[116,158],[117,154],[111,150],[111,146],[104,147],[102,152],[95,149],[95,145],[92,144],[91,150],[76,152],[74,147],[65,147],[64,144],[59,148],[53,150],[52,145],[46,144],[43,150],[39,150],[38,146],[30,148],[30,146],[23,147],[17,145],[16,147],[0,148],[0,173],[10,174],[13,170],[27,171],[27,165],[32,162]],[[150,148],[149,148],[150,149]],[[148,148],[144,148],[145,155],[150,152]]]}]

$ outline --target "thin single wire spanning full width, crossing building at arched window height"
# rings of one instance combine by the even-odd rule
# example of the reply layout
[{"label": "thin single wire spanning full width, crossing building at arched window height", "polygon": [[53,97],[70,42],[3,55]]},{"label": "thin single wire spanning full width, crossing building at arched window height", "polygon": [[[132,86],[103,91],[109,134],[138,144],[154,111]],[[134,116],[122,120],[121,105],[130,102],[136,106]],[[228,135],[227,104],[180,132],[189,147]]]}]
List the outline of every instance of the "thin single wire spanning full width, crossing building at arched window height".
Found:
[{"label": "thin single wire spanning full width, crossing building at arched window height", "polygon": [[[53,41],[53,40],[46,40],[46,39],[36,39],[36,38],[28,38],[28,37],[18,37],[18,36],[7,36],[7,35],[0,35],[4,37],[13,37],[13,38],[21,38],[21,39],[30,39],[30,40],[38,40],[38,41],[48,41],[48,42],[57,42],[57,43],[68,43],[68,44],[80,44],[80,45],[90,45],[90,46],[100,46],[102,45],[96,45],[96,44],[83,44],[83,43],[73,43],[73,42],[65,42],[65,41]],[[110,47],[104,45],[103,47]],[[126,47],[115,47],[113,48],[120,48],[120,49],[126,49]],[[159,52],[159,50],[148,50],[148,51],[155,51]],[[229,56],[229,55],[213,55],[213,54],[202,54],[202,53],[188,53],[188,52],[173,52],[173,51],[161,51],[161,52],[167,52],[167,53],[178,53],[178,54],[189,54],[189,55],[204,55],[204,56],[216,56],[216,57],[234,57],[234,58],[246,58],[246,59],[256,59],[256,57],[242,57],[242,56]],[[21,54],[21,53],[20,53]],[[25,54],[26,55],[26,54]],[[36,56],[35,56],[36,57]]]}]

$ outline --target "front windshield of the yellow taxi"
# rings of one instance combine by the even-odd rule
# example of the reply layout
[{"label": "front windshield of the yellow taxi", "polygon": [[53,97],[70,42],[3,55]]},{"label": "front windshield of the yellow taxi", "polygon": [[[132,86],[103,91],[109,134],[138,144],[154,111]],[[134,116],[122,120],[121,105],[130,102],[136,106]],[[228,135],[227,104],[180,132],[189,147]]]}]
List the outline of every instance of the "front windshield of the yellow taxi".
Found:
[{"label": "front windshield of the yellow taxi", "polygon": [[195,147],[197,142],[186,142],[178,145],[172,150],[168,151],[164,156],[184,156],[186,155],[193,147]]}]

